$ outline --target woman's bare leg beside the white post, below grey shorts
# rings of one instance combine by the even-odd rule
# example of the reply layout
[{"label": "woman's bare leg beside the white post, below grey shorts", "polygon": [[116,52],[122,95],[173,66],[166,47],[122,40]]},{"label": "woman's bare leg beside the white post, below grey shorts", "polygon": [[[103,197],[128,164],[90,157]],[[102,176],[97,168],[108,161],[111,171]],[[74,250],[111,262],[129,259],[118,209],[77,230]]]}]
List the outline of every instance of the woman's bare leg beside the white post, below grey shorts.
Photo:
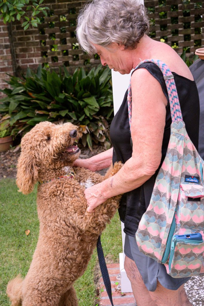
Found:
[{"label": "woman's bare leg beside the white post, below grey shorts", "polygon": [[156,306],[150,297],[149,291],[143,282],[142,275],[139,273],[134,260],[125,256],[124,268],[131,282],[132,292],[137,306]]}]

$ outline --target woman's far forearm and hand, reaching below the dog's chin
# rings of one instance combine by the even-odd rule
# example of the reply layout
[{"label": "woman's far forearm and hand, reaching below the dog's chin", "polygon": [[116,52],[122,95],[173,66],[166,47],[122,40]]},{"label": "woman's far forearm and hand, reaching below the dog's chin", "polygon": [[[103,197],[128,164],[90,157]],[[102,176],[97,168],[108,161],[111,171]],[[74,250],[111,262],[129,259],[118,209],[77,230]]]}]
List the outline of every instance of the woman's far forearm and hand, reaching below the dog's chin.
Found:
[{"label": "woman's far forearm and hand, reaching below the dog's chin", "polygon": [[108,168],[112,164],[112,157],[113,148],[88,159],[76,159],[73,166],[84,167],[91,171],[99,171]]}]

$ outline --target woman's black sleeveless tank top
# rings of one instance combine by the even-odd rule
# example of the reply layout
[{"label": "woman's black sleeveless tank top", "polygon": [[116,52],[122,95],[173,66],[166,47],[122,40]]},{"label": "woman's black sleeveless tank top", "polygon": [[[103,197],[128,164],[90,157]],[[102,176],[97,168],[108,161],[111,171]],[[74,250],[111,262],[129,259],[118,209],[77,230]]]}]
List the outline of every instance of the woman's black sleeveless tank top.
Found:
[{"label": "woman's black sleeveless tank top", "polygon": [[[166,121],[164,136],[162,142],[162,158],[158,170],[152,178],[145,182],[145,188],[149,188],[152,192],[154,181],[165,158],[167,147],[170,138],[171,113],[169,106],[169,98],[166,89],[165,80],[161,70],[153,63],[141,64],[137,69],[146,68],[161,84],[168,104],[166,106]],[[186,125],[186,130],[191,141],[198,149],[198,131],[199,131],[199,96],[195,81],[191,81],[183,76],[173,73],[178,97],[180,101],[183,120]],[[130,143],[130,126],[128,119],[128,102],[126,91],[117,114],[114,116],[110,125],[110,138],[113,145],[113,164],[116,161],[125,163],[132,156],[132,147]],[[127,174],[128,175],[128,174]],[[153,181],[153,183],[152,183]],[[148,186],[149,184],[149,186]],[[144,184],[130,192],[123,194],[118,209],[121,221],[124,222],[124,232],[129,236],[135,236],[139,221],[146,211],[149,203],[145,203]]]}]

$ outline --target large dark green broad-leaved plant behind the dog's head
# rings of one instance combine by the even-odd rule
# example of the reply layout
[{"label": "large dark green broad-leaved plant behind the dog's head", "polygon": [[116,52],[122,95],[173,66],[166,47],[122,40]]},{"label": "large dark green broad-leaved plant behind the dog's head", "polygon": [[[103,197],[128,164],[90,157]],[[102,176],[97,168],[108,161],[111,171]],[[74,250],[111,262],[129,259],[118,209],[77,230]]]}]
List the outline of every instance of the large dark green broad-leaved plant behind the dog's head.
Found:
[{"label": "large dark green broad-leaved plant behind the dog's head", "polygon": [[85,72],[76,69],[71,76],[43,69],[27,70],[23,79],[11,76],[12,89],[1,90],[0,113],[9,115],[9,124],[19,132],[28,131],[40,121],[70,121],[80,128],[82,144],[101,142],[108,147],[109,123],[113,117],[111,71],[99,65]]}]

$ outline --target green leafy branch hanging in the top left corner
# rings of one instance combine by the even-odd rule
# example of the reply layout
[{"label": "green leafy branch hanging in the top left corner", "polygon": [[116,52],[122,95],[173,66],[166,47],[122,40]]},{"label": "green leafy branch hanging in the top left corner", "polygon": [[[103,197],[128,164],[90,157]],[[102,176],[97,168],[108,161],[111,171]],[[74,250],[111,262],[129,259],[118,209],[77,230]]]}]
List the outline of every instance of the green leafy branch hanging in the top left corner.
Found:
[{"label": "green leafy branch hanging in the top left corner", "polygon": [[[37,27],[41,24],[41,20],[37,15],[43,13],[47,16],[48,7],[40,6],[44,0],[3,0],[0,2],[0,19],[3,22],[9,23],[15,19],[21,21],[24,30],[27,30],[30,25]],[[29,12],[29,15],[28,15]]]}]

